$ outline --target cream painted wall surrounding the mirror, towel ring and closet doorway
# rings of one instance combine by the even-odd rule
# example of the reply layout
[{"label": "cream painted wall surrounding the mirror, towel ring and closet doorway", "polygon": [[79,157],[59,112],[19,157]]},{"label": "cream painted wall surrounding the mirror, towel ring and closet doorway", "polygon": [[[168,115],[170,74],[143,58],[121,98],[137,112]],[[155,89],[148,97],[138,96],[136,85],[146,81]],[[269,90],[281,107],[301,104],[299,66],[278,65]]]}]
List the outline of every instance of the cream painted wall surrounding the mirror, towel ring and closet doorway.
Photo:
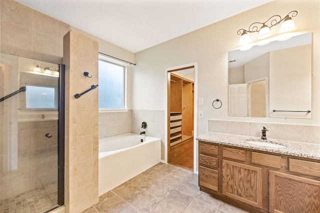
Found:
[{"label": "cream painted wall surrounding the mirror, towel ring and closet doorway", "polygon": [[[294,22],[299,32],[312,32],[312,119],[249,118],[227,115],[227,52],[236,49],[240,36],[236,31],[255,21],[267,20],[274,14],[285,16],[297,10]],[[266,123],[320,125],[320,19],[318,0],[274,0],[217,23],[136,53],[132,72],[132,109],[166,108],[165,68],[197,62],[198,98],[204,105],[204,119],[198,119],[198,134],[207,131],[208,119],[225,121],[255,121]],[[148,79],[147,81],[145,79]],[[145,90],[144,88],[148,88]],[[150,89],[149,89],[150,88]],[[143,94],[140,95],[140,94]],[[212,108],[212,101],[222,101],[220,109]],[[257,132],[260,129],[256,130]]]}]

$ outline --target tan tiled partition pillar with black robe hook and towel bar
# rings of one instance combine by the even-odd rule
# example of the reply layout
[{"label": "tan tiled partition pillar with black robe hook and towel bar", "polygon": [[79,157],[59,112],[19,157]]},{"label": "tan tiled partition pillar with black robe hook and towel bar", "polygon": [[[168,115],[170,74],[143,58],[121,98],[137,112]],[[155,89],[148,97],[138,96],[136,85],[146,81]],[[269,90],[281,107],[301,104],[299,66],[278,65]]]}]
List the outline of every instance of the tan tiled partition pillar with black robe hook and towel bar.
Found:
[{"label": "tan tiled partition pillar with black robe hook and towel bar", "polygon": [[[74,94],[98,83],[98,42],[74,31],[63,39],[65,64],[66,212],[80,213],[98,202],[98,88],[78,99]],[[85,78],[90,70],[92,78]]]}]

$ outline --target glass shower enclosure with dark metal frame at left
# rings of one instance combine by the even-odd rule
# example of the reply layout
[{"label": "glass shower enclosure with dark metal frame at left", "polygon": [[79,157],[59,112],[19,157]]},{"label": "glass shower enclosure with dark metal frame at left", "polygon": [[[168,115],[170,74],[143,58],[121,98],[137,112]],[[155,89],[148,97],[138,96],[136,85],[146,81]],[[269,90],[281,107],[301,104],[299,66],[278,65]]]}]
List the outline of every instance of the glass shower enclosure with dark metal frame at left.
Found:
[{"label": "glass shower enclosure with dark metal frame at left", "polygon": [[0,53],[0,213],[63,204],[64,65]]}]

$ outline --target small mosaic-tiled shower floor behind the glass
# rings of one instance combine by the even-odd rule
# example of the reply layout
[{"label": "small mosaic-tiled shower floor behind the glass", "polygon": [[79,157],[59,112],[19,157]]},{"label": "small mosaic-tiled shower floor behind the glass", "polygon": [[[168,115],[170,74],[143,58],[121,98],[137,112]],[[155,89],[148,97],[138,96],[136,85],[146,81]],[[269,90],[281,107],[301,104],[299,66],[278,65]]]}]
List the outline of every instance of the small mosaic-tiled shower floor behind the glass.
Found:
[{"label": "small mosaic-tiled shower floor behind the glass", "polygon": [[[57,194],[47,195],[47,190],[56,191],[56,184],[32,190],[0,201],[0,213],[43,213],[51,209],[57,200]],[[52,189],[50,189],[52,188]]]}]

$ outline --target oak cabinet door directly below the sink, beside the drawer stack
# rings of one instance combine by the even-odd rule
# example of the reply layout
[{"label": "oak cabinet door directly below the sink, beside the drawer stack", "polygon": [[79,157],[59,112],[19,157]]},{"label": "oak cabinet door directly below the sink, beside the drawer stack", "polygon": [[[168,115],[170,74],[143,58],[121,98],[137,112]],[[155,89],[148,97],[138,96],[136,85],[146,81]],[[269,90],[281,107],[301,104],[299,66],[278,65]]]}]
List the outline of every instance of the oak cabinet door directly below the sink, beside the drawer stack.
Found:
[{"label": "oak cabinet door directly below the sink, beside the drawer stack", "polygon": [[262,208],[261,168],[222,161],[222,194]]}]

